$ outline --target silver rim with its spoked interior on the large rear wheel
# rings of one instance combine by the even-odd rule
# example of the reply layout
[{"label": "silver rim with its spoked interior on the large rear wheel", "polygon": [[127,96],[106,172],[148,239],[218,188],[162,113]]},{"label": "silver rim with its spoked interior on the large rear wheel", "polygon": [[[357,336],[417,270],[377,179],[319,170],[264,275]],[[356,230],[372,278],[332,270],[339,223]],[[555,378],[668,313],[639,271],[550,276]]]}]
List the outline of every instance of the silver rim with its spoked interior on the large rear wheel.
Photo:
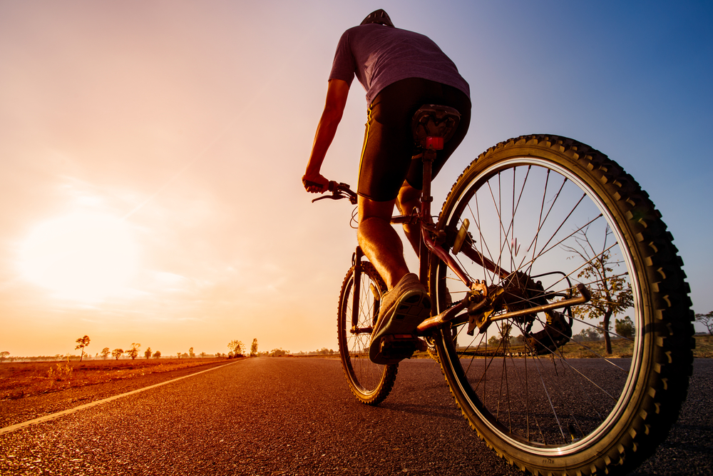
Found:
[{"label": "silver rim with its spoked interior on the large rear wheel", "polygon": [[[636,328],[632,339],[624,342],[630,349],[626,351],[631,355],[628,359],[610,358],[598,351],[599,345],[571,341],[564,355],[561,350],[539,356],[508,355],[520,350],[518,345],[502,342],[503,323],[508,321],[491,324],[481,335],[476,328],[472,337],[466,335],[467,323],[456,329],[454,340],[446,332],[441,335],[449,355],[444,359],[445,365],[460,377],[454,380],[458,380],[466,406],[472,409],[473,420],[482,422],[511,447],[542,456],[568,455],[590,447],[610,432],[624,414],[636,390],[644,353],[639,336],[644,328],[640,280],[634,257],[626,245],[620,244],[627,241],[617,217],[582,178],[560,163],[543,158],[516,157],[493,163],[460,190],[460,198],[441,220],[460,226],[462,218],[468,218],[473,224],[474,246],[502,268],[530,276],[557,270],[568,275],[571,284],[594,286],[592,277],[578,276],[587,268],[583,264],[586,260],[566,248],[578,249],[575,238],[579,235],[573,231],[580,230],[592,241],[591,257],[601,256],[603,250],[609,253],[612,271],[608,276],[630,285],[632,306],[627,313],[616,316],[629,316]],[[610,235],[605,239],[607,227]],[[488,285],[501,281],[462,254],[456,258],[472,280],[485,280]],[[448,286],[454,301],[463,298],[465,288],[458,288],[458,281],[442,262],[437,267],[441,312],[444,286]],[[535,280],[541,280],[548,292],[570,285],[563,275],[545,275]],[[576,315],[576,310],[573,313],[573,334],[598,324]],[[530,335],[538,331],[538,326],[542,330],[543,321],[545,315],[539,313]],[[527,328],[527,323],[517,320],[509,323],[513,325],[513,335]],[[612,316],[612,331],[614,323]],[[501,343],[492,344],[494,350],[487,345],[493,336],[501,339]],[[521,350],[526,353],[528,348]],[[570,352],[580,357],[570,358]]]}]

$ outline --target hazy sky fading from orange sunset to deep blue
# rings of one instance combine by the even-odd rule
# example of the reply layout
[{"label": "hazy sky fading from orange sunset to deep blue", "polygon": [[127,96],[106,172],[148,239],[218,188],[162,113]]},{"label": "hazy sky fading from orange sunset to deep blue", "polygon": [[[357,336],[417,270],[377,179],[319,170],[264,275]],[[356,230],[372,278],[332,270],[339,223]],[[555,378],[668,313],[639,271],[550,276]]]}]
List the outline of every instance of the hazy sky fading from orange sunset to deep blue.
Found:
[{"label": "hazy sky fading from orange sunset to deep blue", "polygon": [[[471,86],[435,208],[488,147],[575,138],[650,194],[713,310],[708,1],[0,0],[0,350],[336,349],[352,206],[300,179],[339,36],[379,8]],[[365,119],[355,81],[327,178],[356,186]]]}]

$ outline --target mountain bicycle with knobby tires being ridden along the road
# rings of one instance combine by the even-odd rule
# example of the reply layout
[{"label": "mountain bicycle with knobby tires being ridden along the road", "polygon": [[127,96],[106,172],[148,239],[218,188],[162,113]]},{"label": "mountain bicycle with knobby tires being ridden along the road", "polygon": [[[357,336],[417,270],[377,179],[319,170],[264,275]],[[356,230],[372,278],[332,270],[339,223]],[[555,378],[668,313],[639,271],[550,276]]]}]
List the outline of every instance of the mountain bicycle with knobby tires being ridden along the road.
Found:
[{"label": "mountain bicycle with knobby tires being ridden along the road", "polygon": [[[692,373],[693,313],[671,234],[615,161],[546,135],[481,153],[434,221],[431,161],[457,121],[443,106],[416,113],[421,207],[392,218],[421,227],[419,275],[434,303],[411,342],[438,360],[463,416],[511,465],[535,475],[632,470],[665,439]],[[356,203],[344,183],[329,190],[315,201]],[[399,365],[369,360],[385,291],[357,247],[339,294],[339,352],[349,388],[369,405],[389,394]],[[624,311],[630,337],[610,327]],[[605,348],[573,328],[603,334]]]}]

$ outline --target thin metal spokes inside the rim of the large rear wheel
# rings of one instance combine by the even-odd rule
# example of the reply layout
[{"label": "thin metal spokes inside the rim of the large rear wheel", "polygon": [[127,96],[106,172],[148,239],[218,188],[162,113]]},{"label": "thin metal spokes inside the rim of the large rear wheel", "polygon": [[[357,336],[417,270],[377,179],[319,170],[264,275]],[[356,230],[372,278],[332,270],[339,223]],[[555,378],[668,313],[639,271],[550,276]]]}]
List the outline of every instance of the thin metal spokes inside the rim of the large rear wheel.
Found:
[{"label": "thin metal spokes inside the rim of the large rear wheel", "polygon": [[[623,268],[615,269],[620,265],[617,260],[610,263],[612,271],[606,270],[605,275],[586,279],[580,276],[583,270],[620,250],[617,240],[612,243],[607,235],[605,216],[591,206],[587,193],[567,176],[531,163],[523,167],[523,171],[518,170],[519,166],[503,168],[482,182],[473,182],[477,190],[455,208],[461,214],[454,218],[458,226],[466,217],[476,226],[471,248],[483,257],[473,252],[468,252],[470,255],[458,253],[454,257],[458,265],[470,280],[479,278],[491,286],[501,285],[506,289],[512,286],[518,290],[508,297],[502,309],[491,311],[493,316],[508,309],[541,305],[543,296],[548,302],[572,296],[576,293],[576,283],[584,283],[590,289],[612,278],[627,280]],[[604,231],[602,240],[597,240],[596,245],[590,243],[591,249],[579,250],[581,255],[587,255],[586,259],[570,249],[586,233],[596,234],[598,230]],[[486,268],[488,262],[494,266]],[[503,266],[510,268],[508,275],[501,274]],[[553,271],[556,273],[547,274]],[[541,287],[537,288],[535,280],[517,278],[515,273],[538,275],[537,279],[543,281]],[[447,280],[453,296],[460,298],[467,292],[450,271],[443,273],[443,280]],[[608,301],[611,300],[595,297],[591,303],[606,305]],[[458,325],[452,344],[473,394],[491,412],[493,420],[504,425],[513,437],[534,445],[566,443],[568,438],[587,435],[600,425],[622,391],[618,380],[608,378],[609,372],[630,373],[630,364],[604,355],[594,345],[571,340],[571,330],[565,333],[564,328],[550,326],[544,316],[536,313],[515,320],[495,321],[496,325],[491,325],[488,332],[467,339],[464,339],[467,325]],[[569,314],[565,320],[573,325],[596,328],[593,323]],[[521,335],[523,342],[524,336],[530,335],[528,345],[543,349],[538,350],[542,355],[523,344],[519,344],[521,350],[513,347],[508,341],[511,331],[506,325],[511,325],[511,331]],[[540,331],[541,335],[535,336]],[[609,333],[614,338],[615,333]],[[593,360],[565,358],[560,348],[548,347],[560,341],[570,341],[572,349],[580,350]],[[570,352],[575,351],[568,354]],[[605,371],[602,365],[612,371]],[[607,377],[602,380],[604,375]],[[578,393],[583,396],[576,400]]]}]

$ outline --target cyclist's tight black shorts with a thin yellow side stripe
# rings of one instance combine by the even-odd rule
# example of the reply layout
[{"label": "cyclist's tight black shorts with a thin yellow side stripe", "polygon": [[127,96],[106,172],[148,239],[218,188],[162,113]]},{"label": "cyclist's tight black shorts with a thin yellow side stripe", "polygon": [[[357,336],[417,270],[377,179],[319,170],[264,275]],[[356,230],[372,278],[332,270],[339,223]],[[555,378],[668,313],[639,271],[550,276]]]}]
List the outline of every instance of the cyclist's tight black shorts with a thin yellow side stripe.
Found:
[{"label": "cyclist's tight black shorts with a thin yellow side stripe", "polygon": [[434,177],[463,141],[471,123],[471,101],[466,93],[419,78],[402,79],[386,86],[376,95],[367,113],[359,162],[359,195],[379,202],[394,200],[404,179],[414,188],[423,188],[424,163],[411,159],[416,153],[411,119],[424,104],[450,106],[461,113],[456,133],[436,153]]}]

